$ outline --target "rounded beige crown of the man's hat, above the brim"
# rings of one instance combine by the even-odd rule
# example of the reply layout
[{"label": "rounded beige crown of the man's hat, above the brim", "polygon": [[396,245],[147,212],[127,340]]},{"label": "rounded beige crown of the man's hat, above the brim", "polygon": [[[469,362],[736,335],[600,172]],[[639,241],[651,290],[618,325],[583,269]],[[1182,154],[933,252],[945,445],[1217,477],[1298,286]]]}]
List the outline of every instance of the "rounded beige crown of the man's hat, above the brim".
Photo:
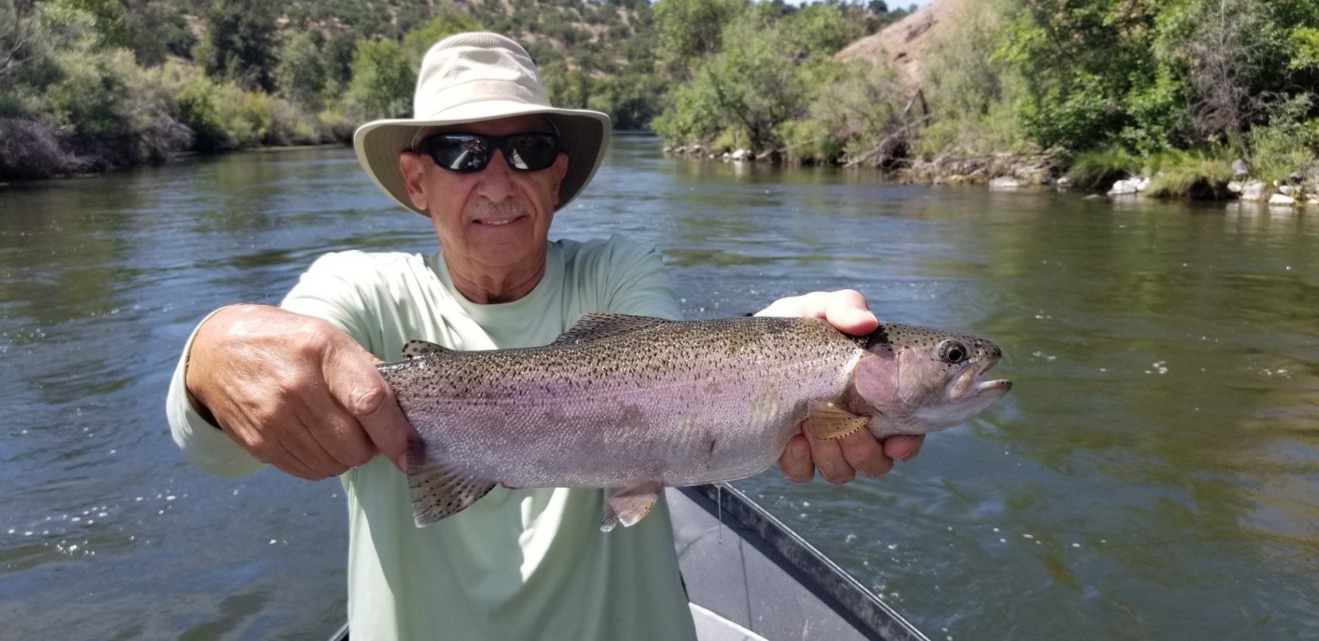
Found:
[{"label": "rounded beige crown of the man's hat, above the brim", "polygon": [[500,100],[550,107],[532,55],[495,33],[459,33],[426,51],[417,74],[413,117],[435,119],[468,103]]}]

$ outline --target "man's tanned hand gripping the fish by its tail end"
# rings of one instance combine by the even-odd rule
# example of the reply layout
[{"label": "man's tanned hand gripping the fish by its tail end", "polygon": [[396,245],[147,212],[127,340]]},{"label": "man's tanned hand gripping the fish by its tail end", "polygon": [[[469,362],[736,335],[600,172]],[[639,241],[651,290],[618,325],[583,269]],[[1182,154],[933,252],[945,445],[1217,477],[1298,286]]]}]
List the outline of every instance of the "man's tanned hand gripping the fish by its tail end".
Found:
[{"label": "man's tanned hand gripping the fish by its tail end", "polygon": [[412,427],[377,360],[326,320],[278,307],[220,310],[189,352],[187,390],[257,460],[321,480],[384,454]]}]

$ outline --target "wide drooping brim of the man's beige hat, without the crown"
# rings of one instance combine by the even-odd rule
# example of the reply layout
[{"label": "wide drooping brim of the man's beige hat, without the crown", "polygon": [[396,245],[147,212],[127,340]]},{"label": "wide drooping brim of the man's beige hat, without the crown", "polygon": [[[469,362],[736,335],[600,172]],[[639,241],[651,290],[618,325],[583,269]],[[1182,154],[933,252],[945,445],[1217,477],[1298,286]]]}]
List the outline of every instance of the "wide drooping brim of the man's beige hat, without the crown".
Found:
[{"label": "wide drooping brim of the man's beige hat, without the crown", "polygon": [[608,115],[599,111],[558,109],[508,100],[472,102],[446,109],[442,119],[389,119],[367,123],[353,133],[352,146],[357,153],[357,162],[377,187],[398,204],[429,216],[426,210],[418,210],[408,198],[408,187],[398,169],[398,154],[412,149],[417,132],[426,127],[479,123],[528,113],[545,115],[554,123],[559,131],[563,152],[568,156],[568,169],[559,183],[559,202],[554,207],[558,211],[572,202],[600,169],[609,145]]}]

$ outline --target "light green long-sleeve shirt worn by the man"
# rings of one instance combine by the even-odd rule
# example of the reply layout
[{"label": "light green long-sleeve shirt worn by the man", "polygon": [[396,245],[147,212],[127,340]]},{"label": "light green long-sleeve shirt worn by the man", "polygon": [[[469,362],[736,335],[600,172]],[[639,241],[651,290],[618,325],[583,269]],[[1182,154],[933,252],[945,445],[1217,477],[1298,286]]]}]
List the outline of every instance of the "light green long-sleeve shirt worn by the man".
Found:
[{"label": "light green long-sleeve shirt worn by the man", "polygon": [[[463,298],[439,252],[343,252],[313,264],[281,306],[335,323],[384,360],[397,360],[410,339],[455,350],[542,346],[591,311],[682,318],[658,252],[617,236],[551,243],[543,280],[509,303]],[[261,470],[190,404],[186,353],[168,400],[175,442],[218,475]],[[383,456],[342,481],[353,640],[695,638],[663,501],[640,524],[601,533],[612,491],[496,487],[418,529],[406,479]]]}]

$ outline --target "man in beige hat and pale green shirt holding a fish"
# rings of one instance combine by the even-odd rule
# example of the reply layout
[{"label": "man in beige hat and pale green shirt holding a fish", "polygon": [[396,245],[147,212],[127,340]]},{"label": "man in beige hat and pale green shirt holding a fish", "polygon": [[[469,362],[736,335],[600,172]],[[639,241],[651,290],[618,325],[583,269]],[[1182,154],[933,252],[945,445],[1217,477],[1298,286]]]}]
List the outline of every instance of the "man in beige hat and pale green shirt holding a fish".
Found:
[{"label": "man in beige hat and pale green shirt holding a fish", "polygon": [[[376,185],[430,216],[439,251],[328,255],[280,307],[210,315],[170,388],[175,441],[219,475],[270,464],[340,476],[355,640],[694,638],[662,501],[636,526],[601,533],[607,489],[496,488],[413,525],[400,472],[412,430],[375,361],[397,359],[409,339],[541,346],[590,311],[681,318],[653,247],[547,240],[554,212],[599,168],[609,120],[550,107],[521,46],[488,33],[441,41],[422,62],[414,115],[369,123],[353,142]],[[874,328],[855,291],[785,298],[764,314]],[[793,480],[819,468],[844,483],[886,472],[919,444],[797,437],[781,467]]]}]

